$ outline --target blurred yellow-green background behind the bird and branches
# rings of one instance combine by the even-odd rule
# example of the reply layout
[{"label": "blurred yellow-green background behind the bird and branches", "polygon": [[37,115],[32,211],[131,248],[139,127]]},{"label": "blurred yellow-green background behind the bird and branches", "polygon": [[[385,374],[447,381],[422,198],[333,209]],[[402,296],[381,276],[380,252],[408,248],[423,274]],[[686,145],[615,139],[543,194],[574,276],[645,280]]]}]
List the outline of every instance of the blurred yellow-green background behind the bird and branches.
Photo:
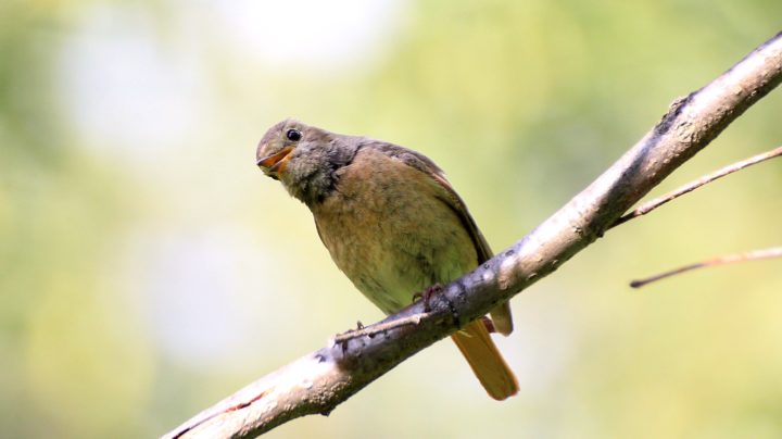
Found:
[{"label": "blurred yellow-green background behind the bird and branches", "polygon": [[[436,160],[495,250],[780,28],[779,1],[0,3],[0,436],[159,436],[381,315],[254,164],[293,116]],[[782,91],[657,193],[782,141]],[[514,299],[490,400],[450,343],[272,438],[782,436],[782,163]]]}]

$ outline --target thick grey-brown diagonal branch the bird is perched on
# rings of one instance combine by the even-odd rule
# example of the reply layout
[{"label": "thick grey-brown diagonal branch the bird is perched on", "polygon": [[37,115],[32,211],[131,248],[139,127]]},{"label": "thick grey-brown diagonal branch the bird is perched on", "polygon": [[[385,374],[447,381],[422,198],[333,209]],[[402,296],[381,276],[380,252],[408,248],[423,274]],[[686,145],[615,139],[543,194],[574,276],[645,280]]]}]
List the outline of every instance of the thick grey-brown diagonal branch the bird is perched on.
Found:
[{"label": "thick grey-brown diagonal branch the bird is perched on", "polygon": [[[204,410],[165,438],[245,438],[328,414],[373,380],[557,269],[782,81],[782,33],[704,88],[677,99],[635,146],[513,247],[415,303],[331,339]],[[379,325],[379,326],[378,326]]]}]

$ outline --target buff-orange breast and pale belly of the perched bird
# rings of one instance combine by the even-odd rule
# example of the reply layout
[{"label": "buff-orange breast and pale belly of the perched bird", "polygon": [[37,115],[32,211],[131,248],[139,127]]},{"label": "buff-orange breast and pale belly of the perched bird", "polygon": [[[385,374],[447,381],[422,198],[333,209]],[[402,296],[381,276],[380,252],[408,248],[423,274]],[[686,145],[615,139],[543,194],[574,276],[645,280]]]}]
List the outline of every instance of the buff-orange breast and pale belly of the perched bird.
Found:
[{"label": "buff-orange breast and pale belly of the perched bird", "polygon": [[386,313],[477,264],[474,243],[442,190],[419,170],[362,151],[340,170],[336,190],[311,208],[337,266]]}]

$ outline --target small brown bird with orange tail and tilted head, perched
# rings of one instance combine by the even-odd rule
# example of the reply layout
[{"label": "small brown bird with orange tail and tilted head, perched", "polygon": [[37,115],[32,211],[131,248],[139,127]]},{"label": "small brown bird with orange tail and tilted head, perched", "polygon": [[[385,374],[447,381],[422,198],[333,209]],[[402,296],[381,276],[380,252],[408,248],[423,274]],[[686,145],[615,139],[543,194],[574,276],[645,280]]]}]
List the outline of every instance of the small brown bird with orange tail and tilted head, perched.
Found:
[{"label": "small brown bird with orange tail and tilted head, perched", "polygon": [[[353,285],[386,314],[417,292],[446,284],[492,256],[443,172],[416,151],[282,121],[264,135],[257,165],[310,208],[320,240]],[[518,382],[489,336],[508,335],[508,303],[452,339],[489,396]]]}]

